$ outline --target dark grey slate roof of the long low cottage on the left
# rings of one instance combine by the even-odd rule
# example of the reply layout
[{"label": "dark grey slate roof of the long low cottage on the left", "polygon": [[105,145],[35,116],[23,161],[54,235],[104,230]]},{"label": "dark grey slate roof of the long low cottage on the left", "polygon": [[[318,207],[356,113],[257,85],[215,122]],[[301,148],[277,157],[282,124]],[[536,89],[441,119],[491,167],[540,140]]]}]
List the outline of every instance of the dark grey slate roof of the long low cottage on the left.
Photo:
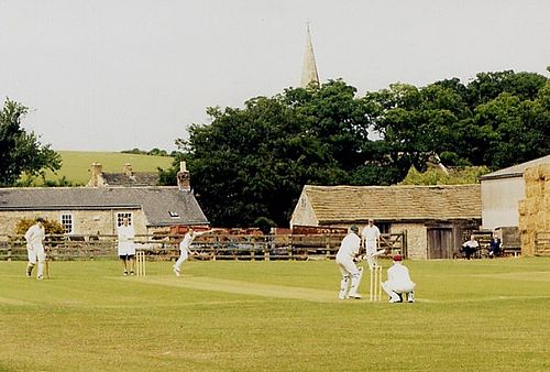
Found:
[{"label": "dark grey slate roof of the long low cottage on the left", "polygon": [[[178,187],[0,188],[0,211],[139,208],[150,226],[208,223],[193,193]],[[170,211],[179,217],[170,217]]]}]

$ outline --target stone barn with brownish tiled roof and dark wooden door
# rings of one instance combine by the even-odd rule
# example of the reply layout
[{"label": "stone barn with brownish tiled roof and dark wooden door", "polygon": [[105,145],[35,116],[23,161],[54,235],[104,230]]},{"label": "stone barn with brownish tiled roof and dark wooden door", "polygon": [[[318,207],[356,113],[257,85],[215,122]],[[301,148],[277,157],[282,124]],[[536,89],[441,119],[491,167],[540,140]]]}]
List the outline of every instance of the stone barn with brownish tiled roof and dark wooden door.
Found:
[{"label": "stone barn with brownish tiled roof and dark wooden door", "polygon": [[406,232],[411,259],[449,259],[463,236],[481,223],[480,185],[310,186],[294,209],[290,226],[363,228],[372,218],[381,232]]}]

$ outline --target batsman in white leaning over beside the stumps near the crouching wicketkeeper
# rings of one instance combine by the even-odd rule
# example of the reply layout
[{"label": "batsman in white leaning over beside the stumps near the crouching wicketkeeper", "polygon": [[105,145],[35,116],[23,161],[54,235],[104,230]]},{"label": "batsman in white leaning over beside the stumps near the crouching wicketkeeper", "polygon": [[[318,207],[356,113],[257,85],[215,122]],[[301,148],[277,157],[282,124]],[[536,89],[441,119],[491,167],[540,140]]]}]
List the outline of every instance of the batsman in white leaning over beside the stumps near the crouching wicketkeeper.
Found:
[{"label": "batsman in white leaning over beside the stumps near the crouching wicketkeeper", "polygon": [[[342,273],[342,281],[340,282],[340,299],[361,298],[361,295],[358,293],[358,288],[361,283],[363,270],[359,269],[354,262],[354,260],[359,256],[361,238],[358,236],[359,228],[355,225],[353,225],[350,230],[350,233],[342,239],[340,249],[337,253],[337,264]],[[350,280],[351,286],[348,292]]]}]

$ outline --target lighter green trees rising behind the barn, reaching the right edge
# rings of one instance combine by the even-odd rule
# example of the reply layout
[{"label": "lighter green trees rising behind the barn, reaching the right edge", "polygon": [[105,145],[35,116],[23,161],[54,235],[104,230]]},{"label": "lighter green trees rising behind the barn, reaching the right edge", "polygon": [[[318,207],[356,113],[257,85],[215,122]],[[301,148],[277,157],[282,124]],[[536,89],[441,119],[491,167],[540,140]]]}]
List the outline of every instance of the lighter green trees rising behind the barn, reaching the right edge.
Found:
[{"label": "lighter green trees rising behind the barn, reaching the right edge", "polygon": [[394,168],[422,169],[439,154],[448,165],[496,169],[550,152],[548,81],[531,73],[487,73],[468,86],[396,84],[366,98],[378,107],[373,122]]}]

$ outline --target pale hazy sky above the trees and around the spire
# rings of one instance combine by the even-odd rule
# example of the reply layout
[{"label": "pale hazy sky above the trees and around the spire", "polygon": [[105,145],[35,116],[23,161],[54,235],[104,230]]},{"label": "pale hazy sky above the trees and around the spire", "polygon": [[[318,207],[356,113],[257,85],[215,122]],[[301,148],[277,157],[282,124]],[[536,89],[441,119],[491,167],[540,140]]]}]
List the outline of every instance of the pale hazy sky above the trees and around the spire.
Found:
[{"label": "pale hazy sky above the trees and around the spire", "polygon": [[0,98],[52,149],[176,150],[208,107],[300,83],[358,95],[481,72],[550,77],[549,0],[0,0]]}]

